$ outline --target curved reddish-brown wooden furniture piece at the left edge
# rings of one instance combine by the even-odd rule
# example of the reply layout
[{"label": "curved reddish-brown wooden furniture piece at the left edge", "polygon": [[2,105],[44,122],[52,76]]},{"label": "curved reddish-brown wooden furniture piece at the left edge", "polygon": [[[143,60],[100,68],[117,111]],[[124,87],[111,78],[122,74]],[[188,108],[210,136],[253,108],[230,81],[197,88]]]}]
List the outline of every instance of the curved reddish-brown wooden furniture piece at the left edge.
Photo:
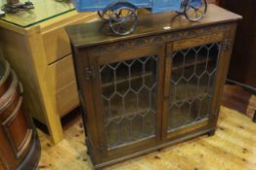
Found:
[{"label": "curved reddish-brown wooden furniture piece at the left edge", "polygon": [[32,120],[22,111],[22,85],[0,60],[0,169],[35,169],[40,144]]}]

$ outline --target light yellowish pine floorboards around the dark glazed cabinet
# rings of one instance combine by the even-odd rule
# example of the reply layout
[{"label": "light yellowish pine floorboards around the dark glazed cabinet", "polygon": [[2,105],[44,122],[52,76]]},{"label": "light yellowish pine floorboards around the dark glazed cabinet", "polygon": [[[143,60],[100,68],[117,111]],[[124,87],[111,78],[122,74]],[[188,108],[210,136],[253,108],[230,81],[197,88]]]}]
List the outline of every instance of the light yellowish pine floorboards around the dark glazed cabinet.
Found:
[{"label": "light yellowish pine floorboards around the dark glazed cabinet", "polygon": [[[64,141],[53,147],[39,131],[42,155],[39,169],[89,170],[81,119],[64,131]],[[160,152],[149,153],[107,170],[256,170],[256,123],[235,110],[221,108],[218,129]]]}]

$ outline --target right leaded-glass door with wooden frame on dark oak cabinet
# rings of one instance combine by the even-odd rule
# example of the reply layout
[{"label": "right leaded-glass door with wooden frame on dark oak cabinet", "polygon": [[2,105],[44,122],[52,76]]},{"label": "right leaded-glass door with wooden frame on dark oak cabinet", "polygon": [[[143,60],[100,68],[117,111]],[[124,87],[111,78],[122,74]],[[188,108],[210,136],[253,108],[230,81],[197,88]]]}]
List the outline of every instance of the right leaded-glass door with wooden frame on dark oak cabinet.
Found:
[{"label": "right leaded-glass door with wooden frame on dark oak cabinet", "polygon": [[223,33],[216,33],[167,45],[163,116],[167,139],[214,128],[216,86],[223,79],[219,70],[223,39]]}]

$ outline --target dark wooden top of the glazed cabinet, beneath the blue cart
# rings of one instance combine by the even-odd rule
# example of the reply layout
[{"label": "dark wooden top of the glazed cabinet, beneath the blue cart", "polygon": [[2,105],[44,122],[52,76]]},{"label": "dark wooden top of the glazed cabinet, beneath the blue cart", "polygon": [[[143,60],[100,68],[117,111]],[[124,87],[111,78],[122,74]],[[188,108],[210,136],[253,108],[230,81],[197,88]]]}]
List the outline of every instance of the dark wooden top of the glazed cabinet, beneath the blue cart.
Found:
[{"label": "dark wooden top of the glazed cabinet, beneath the blue cart", "polygon": [[140,16],[135,31],[127,36],[113,35],[109,30],[108,22],[104,23],[102,20],[70,25],[66,27],[66,31],[72,45],[76,48],[82,48],[239,19],[241,19],[240,16],[210,4],[207,14],[197,22],[190,22],[187,18],[178,16],[176,13]]}]

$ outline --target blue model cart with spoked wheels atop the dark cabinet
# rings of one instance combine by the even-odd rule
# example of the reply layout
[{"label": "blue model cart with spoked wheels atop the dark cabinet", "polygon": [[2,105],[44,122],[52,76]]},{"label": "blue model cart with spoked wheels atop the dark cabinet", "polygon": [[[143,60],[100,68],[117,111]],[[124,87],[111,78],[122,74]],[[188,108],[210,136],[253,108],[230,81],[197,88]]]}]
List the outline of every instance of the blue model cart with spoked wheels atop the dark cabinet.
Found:
[{"label": "blue model cart with spoked wheels atop the dark cabinet", "polygon": [[190,21],[200,20],[207,11],[206,0],[88,0],[72,1],[78,12],[98,12],[116,35],[132,33],[138,23],[138,9],[151,13],[172,12],[184,15]]}]

